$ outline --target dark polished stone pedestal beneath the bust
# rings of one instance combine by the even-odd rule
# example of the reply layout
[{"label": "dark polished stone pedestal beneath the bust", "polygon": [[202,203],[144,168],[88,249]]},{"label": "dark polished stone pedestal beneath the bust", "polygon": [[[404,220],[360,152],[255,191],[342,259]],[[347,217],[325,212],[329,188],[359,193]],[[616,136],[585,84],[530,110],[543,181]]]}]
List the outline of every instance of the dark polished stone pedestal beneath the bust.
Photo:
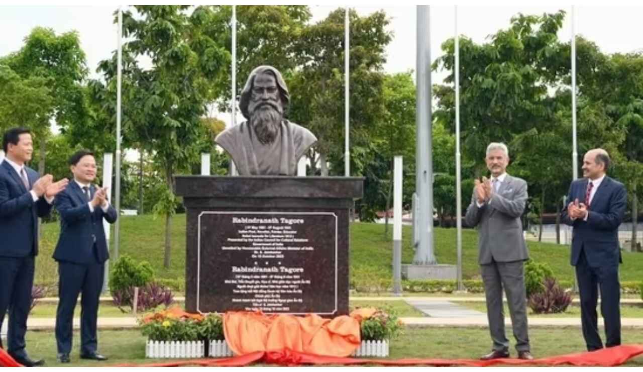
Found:
[{"label": "dark polished stone pedestal beneath the bust", "polygon": [[347,314],[349,210],[363,178],[176,176],[189,312]]}]

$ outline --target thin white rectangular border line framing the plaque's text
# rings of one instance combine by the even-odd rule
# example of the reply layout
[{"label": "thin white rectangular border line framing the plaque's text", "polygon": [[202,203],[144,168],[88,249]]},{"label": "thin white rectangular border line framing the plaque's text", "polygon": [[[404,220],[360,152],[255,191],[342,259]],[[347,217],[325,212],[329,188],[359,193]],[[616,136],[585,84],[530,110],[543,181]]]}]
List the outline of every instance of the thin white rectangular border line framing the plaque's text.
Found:
[{"label": "thin white rectangular border line framing the plaque's text", "polygon": [[[204,214],[295,214],[301,216],[332,216],[335,219],[335,231],[334,231],[334,241],[335,241],[335,303],[334,310],[332,312],[322,312],[316,313],[321,315],[332,315],[338,313],[338,217],[334,212],[250,212],[245,210],[203,210],[199,213],[197,218],[197,312],[201,312],[201,216]],[[301,315],[305,313],[267,313],[267,314],[289,314],[289,315]]]}]

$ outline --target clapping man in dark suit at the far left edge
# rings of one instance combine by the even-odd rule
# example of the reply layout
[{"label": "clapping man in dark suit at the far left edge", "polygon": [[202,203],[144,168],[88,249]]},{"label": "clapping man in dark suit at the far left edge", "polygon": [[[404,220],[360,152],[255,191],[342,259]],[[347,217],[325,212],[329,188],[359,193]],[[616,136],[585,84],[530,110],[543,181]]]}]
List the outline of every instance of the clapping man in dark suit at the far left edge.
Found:
[{"label": "clapping man in dark suit at the far left edge", "polygon": [[51,201],[68,180],[53,182],[51,174],[40,177],[25,165],[33,153],[29,129],[6,131],[3,150],[6,157],[0,164],[0,327],[8,309],[9,355],[24,366],[41,366],[44,360],[30,358],[24,344],[38,254],[38,217],[49,214]]}]

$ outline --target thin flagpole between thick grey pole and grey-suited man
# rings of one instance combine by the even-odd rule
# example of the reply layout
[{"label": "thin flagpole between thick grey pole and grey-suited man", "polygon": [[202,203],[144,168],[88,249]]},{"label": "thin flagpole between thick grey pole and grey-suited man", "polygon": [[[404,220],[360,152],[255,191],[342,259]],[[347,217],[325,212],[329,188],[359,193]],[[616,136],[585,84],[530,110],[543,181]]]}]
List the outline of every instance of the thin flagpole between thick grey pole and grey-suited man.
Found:
[{"label": "thin flagpole between thick grey pole and grey-suited man", "polygon": [[455,215],[457,223],[456,243],[458,254],[458,291],[462,285],[462,180],[460,174],[460,35],[458,35],[458,6],[455,6]]}]

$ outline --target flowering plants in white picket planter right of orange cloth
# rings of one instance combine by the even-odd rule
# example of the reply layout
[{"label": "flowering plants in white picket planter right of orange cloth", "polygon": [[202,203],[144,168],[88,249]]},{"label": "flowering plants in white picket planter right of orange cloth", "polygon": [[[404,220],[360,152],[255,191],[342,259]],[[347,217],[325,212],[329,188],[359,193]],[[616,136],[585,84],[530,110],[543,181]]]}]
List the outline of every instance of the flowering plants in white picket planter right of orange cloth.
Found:
[{"label": "flowering plants in white picket planter right of orange cloth", "polygon": [[391,339],[397,336],[402,324],[391,310],[375,310],[359,322],[361,344],[355,351],[356,357],[388,357]]}]

